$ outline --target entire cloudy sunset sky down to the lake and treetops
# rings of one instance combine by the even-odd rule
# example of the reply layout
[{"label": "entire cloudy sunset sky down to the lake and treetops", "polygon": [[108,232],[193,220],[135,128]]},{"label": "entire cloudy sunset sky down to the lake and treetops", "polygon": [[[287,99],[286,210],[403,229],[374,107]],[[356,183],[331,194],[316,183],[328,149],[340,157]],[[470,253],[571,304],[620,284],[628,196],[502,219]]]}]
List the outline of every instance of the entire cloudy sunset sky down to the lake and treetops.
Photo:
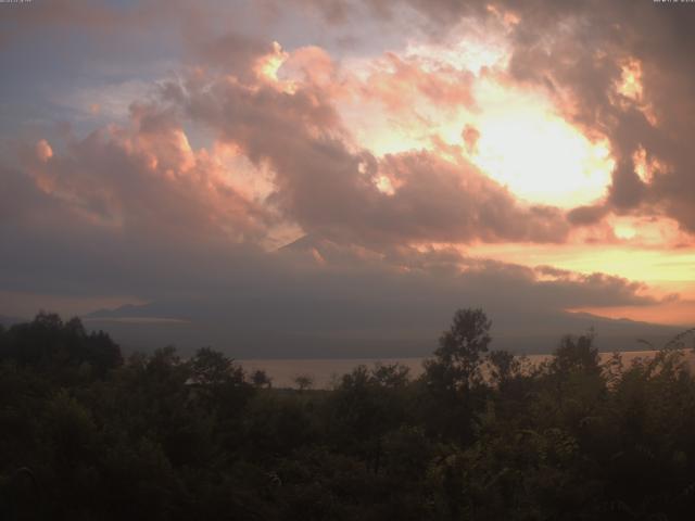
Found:
[{"label": "entire cloudy sunset sky down to the lake and treetops", "polygon": [[694,23],[654,0],[0,3],[0,315],[245,357],[419,353],[459,307],[530,351],[692,327]]}]

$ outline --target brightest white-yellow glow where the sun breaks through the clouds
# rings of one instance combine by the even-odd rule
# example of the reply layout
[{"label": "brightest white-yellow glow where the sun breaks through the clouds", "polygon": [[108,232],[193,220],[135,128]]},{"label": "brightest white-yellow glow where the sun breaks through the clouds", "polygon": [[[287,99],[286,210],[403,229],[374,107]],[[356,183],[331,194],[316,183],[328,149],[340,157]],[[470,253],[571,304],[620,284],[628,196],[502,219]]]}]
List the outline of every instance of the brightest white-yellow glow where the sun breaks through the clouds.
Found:
[{"label": "brightest white-yellow glow where the sun breaks through the clouds", "polygon": [[[469,161],[516,196],[571,208],[605,195],[615,166],[608,141],[587,139],[559,115],[558,107],[544,93],[505,85],[498,73],[491,72],[491,67],[506,66],[503,49],[485,48],[480,42],[468,47],[462,40],[460,47],[442,54],[438,51],[412,46],[403,56],[351,64],[354,69],[346,82],[354,90],[374,89],[370,77],[380,80],[377,99],[365,100],[364,92],[359,92],[359,97],[355,94],[338,104],[362,147],[377,156],[435,150],[438,142],[460,147],[463,152],[462,132],[470,127],[477,130],[478,141],[467,151]],[[472,71],[456,68],[471,62]],[[469,89],[475,103],[438,104],[402,82],[384,88],[384,81],[397,79],[402,63],[410,67],[410,81],[425,75],[437,76],[438,71],[446,81],[470,79],[470,85],[462,85],[460,89]],[[469,76],[464,76],[464,71]],[[422,88],[447,92],[444,89],[448,86],[427,84]]]}]

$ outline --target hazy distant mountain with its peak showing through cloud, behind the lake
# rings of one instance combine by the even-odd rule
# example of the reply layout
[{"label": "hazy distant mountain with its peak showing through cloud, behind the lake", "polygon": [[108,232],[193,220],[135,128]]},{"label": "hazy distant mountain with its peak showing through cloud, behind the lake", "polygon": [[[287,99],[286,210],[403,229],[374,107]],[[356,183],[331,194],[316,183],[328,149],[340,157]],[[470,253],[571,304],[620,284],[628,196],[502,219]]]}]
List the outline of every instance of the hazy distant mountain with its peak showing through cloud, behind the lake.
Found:
[{"label": "hazy distant mountain with its peak showing through cloud, behind the lake", "polygon": [[[549,353],[563,335],[592,328],[606,352],[646,348],[640,339],[658,346],[680,332],[557,310],[571,301],[571,295],[556,296],[566,288],[545,284],[541,291],[527,275],[508,275],[516,271],[505,266],[489,268],[490,277],[482,270],[466,279],[451,272],[438,278],[431,275],[437,269],[401,275],[384,269],[372,252],[313,236],[278,249],[268,262],[275,260],[282,266],[299,260],[312,269],[267,269],[264,277],[240,276],[198,298],[127,305],[84,318],[126,350],[210,345],[237,358],[427,356],[455,309],[468,306],[482,307],[492,319],[492,347],[515,353]],[[500,283],[506,284],[504,292]]]}]

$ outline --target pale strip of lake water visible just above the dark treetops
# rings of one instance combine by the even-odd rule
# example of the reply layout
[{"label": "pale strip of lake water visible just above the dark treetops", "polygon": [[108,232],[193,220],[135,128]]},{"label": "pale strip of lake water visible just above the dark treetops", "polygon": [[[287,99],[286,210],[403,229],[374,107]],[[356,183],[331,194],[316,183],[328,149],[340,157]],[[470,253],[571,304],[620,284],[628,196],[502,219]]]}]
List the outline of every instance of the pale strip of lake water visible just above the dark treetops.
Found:
[{"label": "pale strip of lake water visible just above the dark treetops", "polygon": [[[637,358],[654,356],[655,351],[623,351],[622,361],[628,367]],[[549,358],[551,355],[527,355],[530,364],[539,364]],[[601,353],[602,361],[607,361],[612,353]],[[695,355],[691,350],[685,351],[685,356],[691,369],[695,369]],[[330,389],[340,380],[342,374],[352,371],[358,365],[367,367],[376,363],[400,363],[410,369],[410,378],[417,378],[422,373],[424,357],[417,358],[306,358],[306,359],[244,359],[236,360],[241,364],[247,372],[263,369],[273,380],[274,387],[294,387],[294,379],[298,376],[308,376],[313,379],[314,389]]]}]

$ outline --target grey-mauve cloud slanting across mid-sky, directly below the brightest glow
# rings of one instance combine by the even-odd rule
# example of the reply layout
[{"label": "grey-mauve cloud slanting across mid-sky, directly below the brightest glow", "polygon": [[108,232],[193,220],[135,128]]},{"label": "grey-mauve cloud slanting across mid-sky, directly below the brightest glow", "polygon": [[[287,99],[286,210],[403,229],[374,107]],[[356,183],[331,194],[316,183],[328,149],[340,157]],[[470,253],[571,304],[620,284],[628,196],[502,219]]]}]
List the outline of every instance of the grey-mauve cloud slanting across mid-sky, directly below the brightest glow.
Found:
[{"label": "grey-mauve cloud slanting across mid-sky, directly below the brightest glow", "polygon": [[[168,94],[219,139],[275,171],[270,202],[305,231],[357,243],[561,242],[563,213],[527,206],[463,157],[425,151],[375,158],[316,86],[293,92],[227,78],[172,87]],[[381,178],[392,190],[377,188]]]}]

